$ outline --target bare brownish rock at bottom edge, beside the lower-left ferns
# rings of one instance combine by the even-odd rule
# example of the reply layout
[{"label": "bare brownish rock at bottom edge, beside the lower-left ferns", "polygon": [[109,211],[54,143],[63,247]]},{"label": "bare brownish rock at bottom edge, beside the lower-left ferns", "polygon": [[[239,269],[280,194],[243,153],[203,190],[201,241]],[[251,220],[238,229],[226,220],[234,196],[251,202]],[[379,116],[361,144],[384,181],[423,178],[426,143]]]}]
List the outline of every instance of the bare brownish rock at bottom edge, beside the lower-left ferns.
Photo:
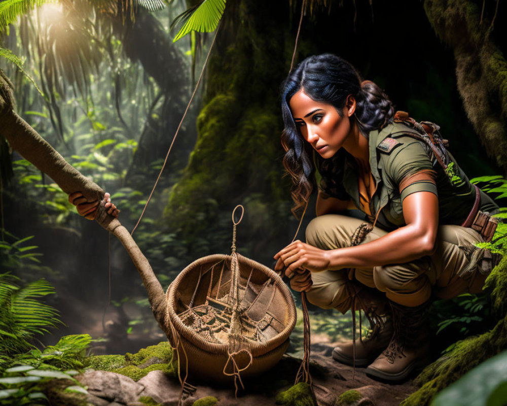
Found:
[{"label": "bare brownish rock at bottom edge, beside the lower-left ferns", "polygon": [[114,402],[136,402],[144,390],[142,384],[132,379],[106,371],[91,371],[77,377],[83,385],[88,387],[88,393]]}]

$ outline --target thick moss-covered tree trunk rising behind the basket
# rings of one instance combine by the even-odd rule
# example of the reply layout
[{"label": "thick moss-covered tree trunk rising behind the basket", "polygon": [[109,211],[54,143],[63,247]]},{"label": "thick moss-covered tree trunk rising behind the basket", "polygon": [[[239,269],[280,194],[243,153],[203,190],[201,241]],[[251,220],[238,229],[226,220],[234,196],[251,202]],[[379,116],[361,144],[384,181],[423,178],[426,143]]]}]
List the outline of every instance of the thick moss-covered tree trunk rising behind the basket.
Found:
[{"label": "thick moss-covered tree trunk rising behind the basket", "polygon": [[[290,218],[289,186],[281,182],[278,89],[294,49],[291,14],[288,2],[227,3],[206,72],[197,144],[165,210],[169,228],[180,230],[190,245],[201,237],[212,246],[220,223],[229,231],[232,209],[243,204],[241,240],[253,244],[250,254],[262,256],[276,238],[273,228]],[[229,233],[223,238],[217,244],[222,251]]]}]

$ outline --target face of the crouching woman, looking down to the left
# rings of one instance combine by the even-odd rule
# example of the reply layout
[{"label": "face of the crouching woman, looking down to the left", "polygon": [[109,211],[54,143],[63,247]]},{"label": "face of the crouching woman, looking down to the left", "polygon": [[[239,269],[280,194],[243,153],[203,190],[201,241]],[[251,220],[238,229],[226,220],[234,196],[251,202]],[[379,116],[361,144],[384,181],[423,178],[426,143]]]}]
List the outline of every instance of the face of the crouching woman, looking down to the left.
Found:
[{"label": "face of the crouching woman, looking down to the left", "polygon": [[289,100],[289,106],[303,138],[322,158],[336,154],[351,132],[349,117],[355,102],[352,108],[345,106],[340,116],[333,105],[315,101],[301,89]]}]

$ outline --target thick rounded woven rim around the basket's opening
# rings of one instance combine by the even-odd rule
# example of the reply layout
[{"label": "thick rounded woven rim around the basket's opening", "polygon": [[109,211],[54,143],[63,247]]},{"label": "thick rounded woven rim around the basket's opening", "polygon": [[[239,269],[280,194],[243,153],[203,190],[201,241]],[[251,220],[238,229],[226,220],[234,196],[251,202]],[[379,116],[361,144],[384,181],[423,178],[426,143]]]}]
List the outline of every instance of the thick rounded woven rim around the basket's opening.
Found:
[{"label": "thick rounded woven rim around the basket's opening", "polygon": [[[252,353],[252,356],[259,356],[262,355],[273,348],[278,347],[279,345],[283,344],[291,334],[292,330],[294,329],[294,326],[296,325],[296,305],[294,303],[294,299],[292,297],[291,291],[288,289],[288,287],[285,285],[285,283],[282,281],[280,276],[276,274],[272,269],[268,268],[267,266],[257,262],[253,261],[249,258],[246,258],[242,256],[241,254],[236,253],[238,262],[249,265],[251,267],[254,267],[264,274],[266,274],[268,277],[270,277],[275,285],[279,288],[280,292],[282,293],[283,298],[285,299],[285,302],[287,303],[287,324],[283,328],[282,331],[280,331],[277,335],[266,341],[265,343],[251,343],[250,344],[250,351]],[[224,260],[232,258],[232,254],[213,254],[213,255],[207,255],[205,257],[201,257],[191,264],[189,264],[185,269],[182,270],[182,272],[179,273],[179,275],[174,279],[174,281],[169,285],[167,288],[166,296],[167,296],[167,308],[168,308],[168,314],[169,314],[169,322],[171,322],[174,326],[174,328],[179,332],[179,334],[183,335],[185,339],[198,346],[199,348],[214,352],[214,353],[221,353],[221,354],[227,354],[228,352],[228,345],[227,344],[217,344],[217,343],[210,343],[203,339],[200,335],[196,334],[190,327],[183,324],[183,322],[180,320],[180,318],[177,316],[176,312],[174,311],[174,301],[176,297],[176,288],[179,285],[179,283],[183,280],[183,278],[191,272],[192,269],[194,269],[196,266],[213,261],[213,260]]]}]

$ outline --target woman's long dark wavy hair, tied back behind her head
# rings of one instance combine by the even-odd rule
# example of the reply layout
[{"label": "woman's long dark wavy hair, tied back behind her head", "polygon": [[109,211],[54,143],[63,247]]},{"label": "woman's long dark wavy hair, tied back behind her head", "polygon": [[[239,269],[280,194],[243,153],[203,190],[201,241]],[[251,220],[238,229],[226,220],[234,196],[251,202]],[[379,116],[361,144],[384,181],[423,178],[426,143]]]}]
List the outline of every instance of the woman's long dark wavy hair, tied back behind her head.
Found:
[{"label": "woman's long dark wavy hair, tied back behind her head", "polygon": [[[300,89],[313,100],[334,106],[340,116],[347,96],[354,96],[356,109],[351,119],[357,120],[360,132],[366,137],[370,131],[391,122],[394,115],[392,103],[382,89],[371,81],[361,81],[354,67],[336,55],[309,56],[289,73],[282,83],[281,91],[285,126],[281,143],[286,151],[283,166],[294,184],[291,195],[295,202],[292,209],[295,215],[306,205],[313,190],[314,178],[313,149],[301,136],[288,104]],[[332,158],[319,159],[319,164],[324,168],[343,164],[344,154],[341,150],[339,152]]]}]

